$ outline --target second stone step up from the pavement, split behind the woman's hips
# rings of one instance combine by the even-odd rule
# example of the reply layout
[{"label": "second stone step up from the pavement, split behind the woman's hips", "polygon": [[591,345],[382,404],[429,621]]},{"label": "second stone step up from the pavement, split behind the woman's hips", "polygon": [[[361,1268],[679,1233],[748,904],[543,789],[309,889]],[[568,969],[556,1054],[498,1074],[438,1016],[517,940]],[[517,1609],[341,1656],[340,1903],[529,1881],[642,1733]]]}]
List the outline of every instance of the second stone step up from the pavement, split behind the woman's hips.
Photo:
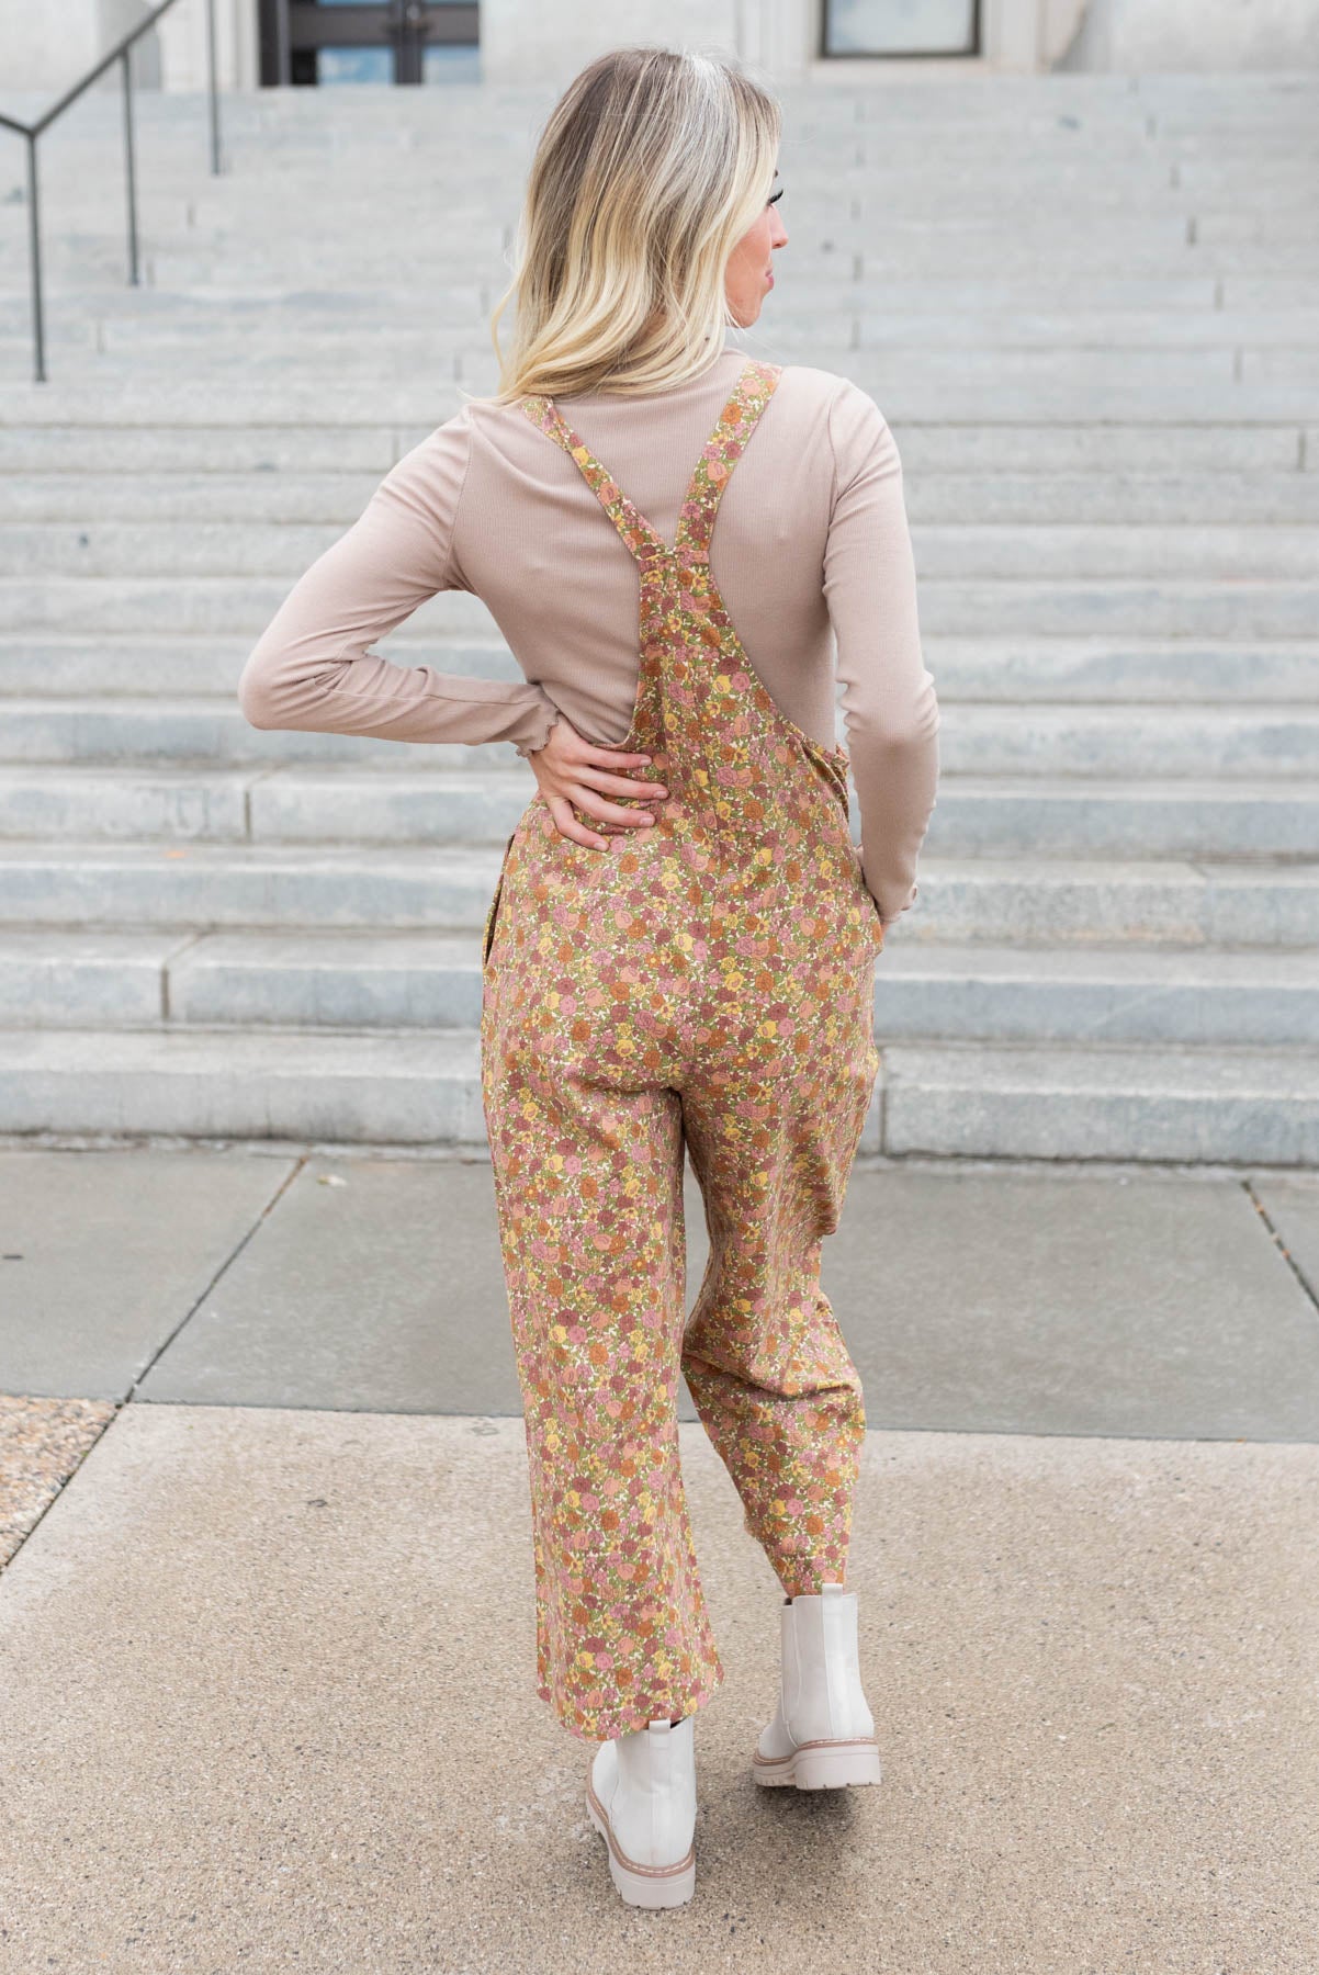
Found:
[{"label": "second stone step up from the pavement, split behind the woman's hips", "polygon": [[[1319,952],[885,948],[875,1033],[900,1041],[1319,1047]],[[14,930],[0,1027],[472,1029],[480,930]]]}]

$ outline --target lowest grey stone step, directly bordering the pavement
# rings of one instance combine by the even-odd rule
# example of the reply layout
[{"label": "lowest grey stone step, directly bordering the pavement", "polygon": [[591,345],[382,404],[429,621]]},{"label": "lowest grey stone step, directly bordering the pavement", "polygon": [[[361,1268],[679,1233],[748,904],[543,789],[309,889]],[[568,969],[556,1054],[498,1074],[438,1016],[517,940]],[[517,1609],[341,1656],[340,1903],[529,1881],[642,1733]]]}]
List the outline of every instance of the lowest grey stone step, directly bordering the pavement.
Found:
[{"label": "lowest grey stone step, directly bordering the pavement", "polygon": [[[484,1146],[472,1031],[0,1031],[0,1130]],[[1311,1165],[1319,1053],[883,1051],[863,1151]]]}]

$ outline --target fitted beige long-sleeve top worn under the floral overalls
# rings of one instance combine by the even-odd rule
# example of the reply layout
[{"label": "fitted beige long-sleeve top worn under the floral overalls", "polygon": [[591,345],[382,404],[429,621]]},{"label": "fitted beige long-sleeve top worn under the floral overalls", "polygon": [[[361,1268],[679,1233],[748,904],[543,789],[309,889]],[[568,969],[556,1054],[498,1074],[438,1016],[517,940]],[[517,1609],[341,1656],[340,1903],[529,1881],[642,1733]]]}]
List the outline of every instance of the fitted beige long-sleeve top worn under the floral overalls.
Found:
[{"label": "fitted beige long-sleeve top worn under the floral overalls", "polygon": [[[559,397],[563,417],[665,541],[746,356],[646,397]],[[881,918],[916,895],[938,782],[902,466],[875,401],[788,363],[729,478],[711,575],[770,697],[837,747],[837,687]],[[494,616],[523,677],[476,679],[371,652],[436,591]],[[638,683],[638,565],[577,464],[519,405],[464,405],[379,482],[294,583],[251,650],[253,727],[393,741],[509,741],[523,756],[563,713],[620,747]]]}]

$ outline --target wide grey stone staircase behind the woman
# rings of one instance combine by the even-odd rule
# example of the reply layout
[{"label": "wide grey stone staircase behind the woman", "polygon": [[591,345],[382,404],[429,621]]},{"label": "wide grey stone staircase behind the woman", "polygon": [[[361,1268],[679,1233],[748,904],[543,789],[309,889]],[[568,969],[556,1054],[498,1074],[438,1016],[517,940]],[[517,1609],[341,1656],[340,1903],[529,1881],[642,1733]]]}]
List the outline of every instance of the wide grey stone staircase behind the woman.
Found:
[{"label": "wide grey stone staircase behind the woman", "polygon": [[[32,385],[0,152],[0,1132],[484,1144],[505,749],[251,729],[235,681],[494,383],[549,95],[118,99],[47,144]],[[788,91],[776,361],[906,466],[944,780],[879,964],[891,1153],[1319,1161],[1317,91]],[[379,644],[515,675],[436,596]]]}]

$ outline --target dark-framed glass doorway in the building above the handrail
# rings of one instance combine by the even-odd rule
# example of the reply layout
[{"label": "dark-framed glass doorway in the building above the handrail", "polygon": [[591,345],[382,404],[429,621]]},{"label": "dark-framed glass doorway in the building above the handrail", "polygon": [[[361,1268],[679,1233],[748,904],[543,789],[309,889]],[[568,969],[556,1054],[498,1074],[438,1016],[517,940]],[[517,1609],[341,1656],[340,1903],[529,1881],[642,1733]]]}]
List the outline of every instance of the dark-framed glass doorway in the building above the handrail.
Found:
[{"label": "dark-framed glass doorway in the building above the handrail", "polygon": [[261,83],[476,79],[476,0],[259,0]]}]

